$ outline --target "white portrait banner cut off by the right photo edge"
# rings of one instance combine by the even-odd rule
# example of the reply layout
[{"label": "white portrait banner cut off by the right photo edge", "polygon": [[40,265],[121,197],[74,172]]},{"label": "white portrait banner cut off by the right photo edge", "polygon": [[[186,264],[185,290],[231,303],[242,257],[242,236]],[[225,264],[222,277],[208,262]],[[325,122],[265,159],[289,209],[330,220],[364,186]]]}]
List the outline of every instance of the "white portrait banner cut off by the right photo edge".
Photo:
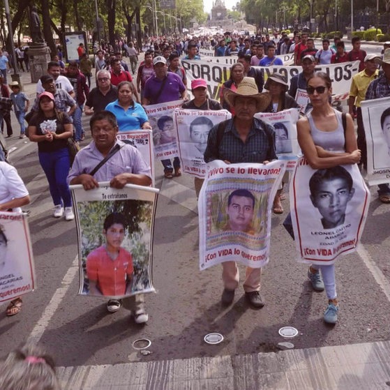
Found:
[{"label": "white portrait banner cut off by the right photo edge", "polygon": [[390,98],[361,102],[367,142],[366,180],[375,184],[390,181]]}]

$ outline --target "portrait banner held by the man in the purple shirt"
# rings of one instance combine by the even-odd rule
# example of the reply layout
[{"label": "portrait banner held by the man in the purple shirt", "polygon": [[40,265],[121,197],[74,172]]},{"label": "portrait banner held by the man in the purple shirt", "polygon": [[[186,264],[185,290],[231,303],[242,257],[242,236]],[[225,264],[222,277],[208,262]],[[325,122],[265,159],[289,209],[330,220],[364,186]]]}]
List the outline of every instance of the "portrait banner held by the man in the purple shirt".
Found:
[{"label": "portrait banner held by the man in the purple shirt", "polygon": [[153,130],[154,155],[158,160],[179,156],[174,130],[173,112],[181,108],[184,100],[145,106],[150,126]]}]

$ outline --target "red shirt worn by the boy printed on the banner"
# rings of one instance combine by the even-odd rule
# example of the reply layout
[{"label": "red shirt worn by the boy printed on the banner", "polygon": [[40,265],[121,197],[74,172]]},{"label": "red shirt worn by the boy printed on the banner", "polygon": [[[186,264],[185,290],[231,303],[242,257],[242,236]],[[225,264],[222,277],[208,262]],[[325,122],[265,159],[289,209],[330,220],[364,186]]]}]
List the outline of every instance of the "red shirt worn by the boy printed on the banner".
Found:
[{"label": "red shirt worn by the boy printed on the banner", "polygon": [[105,246],[99,246],[87,256],[87,276],[107,297],[123,296],[133,271],[133,258],[123,248],[119,248],[115,260],[108,255]]}]

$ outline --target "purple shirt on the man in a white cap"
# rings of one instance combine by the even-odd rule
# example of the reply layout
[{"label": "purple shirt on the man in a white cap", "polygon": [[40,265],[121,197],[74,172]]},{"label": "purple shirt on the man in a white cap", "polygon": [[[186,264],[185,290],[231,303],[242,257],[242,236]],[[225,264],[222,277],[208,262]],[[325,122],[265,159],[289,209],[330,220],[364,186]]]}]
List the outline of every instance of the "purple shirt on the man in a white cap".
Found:
[{"label": "purple shirt on the man in a white cap", "polygon": [[181,93],[186,90],[186,86],[183,84],[181,78],[176,73],[168,72],[163,91],[161,91],[160,96],[158,96],[158,91],[160,91],[161,84],[163,84],[164,80],[165,79],[160,80],[156,76],[153,76],[145,83],[144,98],[149,100],[149,104],[179,100],[181,98]]}]

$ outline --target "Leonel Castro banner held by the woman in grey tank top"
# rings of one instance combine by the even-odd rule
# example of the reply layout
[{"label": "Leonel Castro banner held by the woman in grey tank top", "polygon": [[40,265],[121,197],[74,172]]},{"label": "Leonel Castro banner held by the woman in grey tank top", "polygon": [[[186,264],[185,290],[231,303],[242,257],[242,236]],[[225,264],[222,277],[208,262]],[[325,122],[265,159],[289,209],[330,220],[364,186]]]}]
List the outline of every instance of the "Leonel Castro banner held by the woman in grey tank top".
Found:
[{"label": "Leonel Castro banner held by the woman in grey tank top", "polygon": [[313,170],[301,157],[290,181],[298,261],[333,264],[356,250],[369,205],[370,191],[356,164]]}]

